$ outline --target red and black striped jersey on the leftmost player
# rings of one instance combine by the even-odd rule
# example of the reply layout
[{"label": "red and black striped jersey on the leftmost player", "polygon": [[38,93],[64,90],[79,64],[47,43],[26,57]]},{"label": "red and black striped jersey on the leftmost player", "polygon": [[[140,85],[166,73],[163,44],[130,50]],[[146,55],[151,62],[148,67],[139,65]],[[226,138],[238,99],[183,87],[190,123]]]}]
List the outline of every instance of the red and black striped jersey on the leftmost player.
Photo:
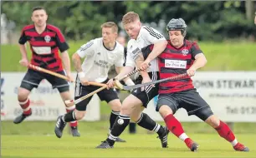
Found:
[{"label": "red and black striped jersey on the leftmost player", "polygon": [[34,25],[28,25],[23,27],[18,42],[19,44],[29,42],[30,49],[33,52],[31,64],[54,72],[63,71],[59,51],[68,50],[69,45],[58,27],[47,24],[44,32],[38,34]]}]

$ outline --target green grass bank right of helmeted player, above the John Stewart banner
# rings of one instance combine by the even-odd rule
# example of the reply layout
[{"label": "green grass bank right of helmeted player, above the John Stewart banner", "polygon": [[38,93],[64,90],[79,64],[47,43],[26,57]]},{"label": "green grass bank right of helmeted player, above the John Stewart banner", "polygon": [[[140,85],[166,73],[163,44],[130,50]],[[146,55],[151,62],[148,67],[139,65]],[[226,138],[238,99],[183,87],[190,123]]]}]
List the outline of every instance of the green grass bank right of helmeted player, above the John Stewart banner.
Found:
[{"label": "green grass bank right of helmeted player, above the John Stewart banner", "polygon": [[206,71],[255,71],[254,42],[200,42],[207,57]]}]

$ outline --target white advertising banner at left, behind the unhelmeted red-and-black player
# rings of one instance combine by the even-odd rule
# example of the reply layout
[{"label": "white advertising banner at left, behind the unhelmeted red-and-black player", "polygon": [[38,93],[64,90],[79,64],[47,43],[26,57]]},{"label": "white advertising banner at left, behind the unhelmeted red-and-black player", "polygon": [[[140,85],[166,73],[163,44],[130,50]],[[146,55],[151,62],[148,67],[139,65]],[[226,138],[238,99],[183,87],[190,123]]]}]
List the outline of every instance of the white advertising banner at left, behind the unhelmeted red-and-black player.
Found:
[{"label": "white advertising banner at left, behind the unhelmeted red-and-black player", "polygon": [[[18,105],[18,86],[24,77],[23,72],[1,73],[1,120],[13,120],[22,112]],[[74,83],[70,84],[71,95],[74,96]],[[73,97],[74,98],[74,97]],[[59,115],[66,113],[64,102],[59,91],[53,89],[49,81],[41,81],[38,89],[33,89],[30,96],[33,115],[28,121],[55,121]],[[87,106],[85,121],[100,120],[100,100],[95,95]]]}]

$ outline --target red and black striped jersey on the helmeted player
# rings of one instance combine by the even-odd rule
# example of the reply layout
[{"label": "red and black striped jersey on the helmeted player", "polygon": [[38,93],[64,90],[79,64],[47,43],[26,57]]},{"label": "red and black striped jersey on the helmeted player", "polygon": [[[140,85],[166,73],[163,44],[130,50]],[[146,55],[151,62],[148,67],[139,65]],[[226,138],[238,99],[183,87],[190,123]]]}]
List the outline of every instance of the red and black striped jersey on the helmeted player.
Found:
[{"label": "red and black striped jersey on the helmeted player", "polygon": [[[143,48],[144,57],[148,56],[154,45]],[[146,53],[147,52],[147,53]],[[189,69],[197,54],[202,53],[196,42],[184,40],[182,47],[173,47],[171,42],[168,41],[164,52],[158,56],[158,67],[160,78],[174,77],[182,73],[186,73]],[[193,89],[191,77],[178,79],[175,81],[165,81],[159,84],[159,94],[172,93],[177,91],[187,91]]]}]

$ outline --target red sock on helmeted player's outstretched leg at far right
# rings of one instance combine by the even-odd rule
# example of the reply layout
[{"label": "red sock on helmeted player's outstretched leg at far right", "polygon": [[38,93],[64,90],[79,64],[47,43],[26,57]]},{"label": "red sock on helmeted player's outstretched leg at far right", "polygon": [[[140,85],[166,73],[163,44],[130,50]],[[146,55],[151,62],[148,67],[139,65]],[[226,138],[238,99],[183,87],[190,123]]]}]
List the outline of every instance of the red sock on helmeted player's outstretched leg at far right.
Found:
[{"label": "red sock on helmeted player's outstretched leg at far right", "polygon": [[228,127],[226,123],[220,121],[219,126],[215,128],[218,131],[218,135],[223,137],[225,140],[232,142],[235,140],[235,136],[233,135],[233,131]]}]

